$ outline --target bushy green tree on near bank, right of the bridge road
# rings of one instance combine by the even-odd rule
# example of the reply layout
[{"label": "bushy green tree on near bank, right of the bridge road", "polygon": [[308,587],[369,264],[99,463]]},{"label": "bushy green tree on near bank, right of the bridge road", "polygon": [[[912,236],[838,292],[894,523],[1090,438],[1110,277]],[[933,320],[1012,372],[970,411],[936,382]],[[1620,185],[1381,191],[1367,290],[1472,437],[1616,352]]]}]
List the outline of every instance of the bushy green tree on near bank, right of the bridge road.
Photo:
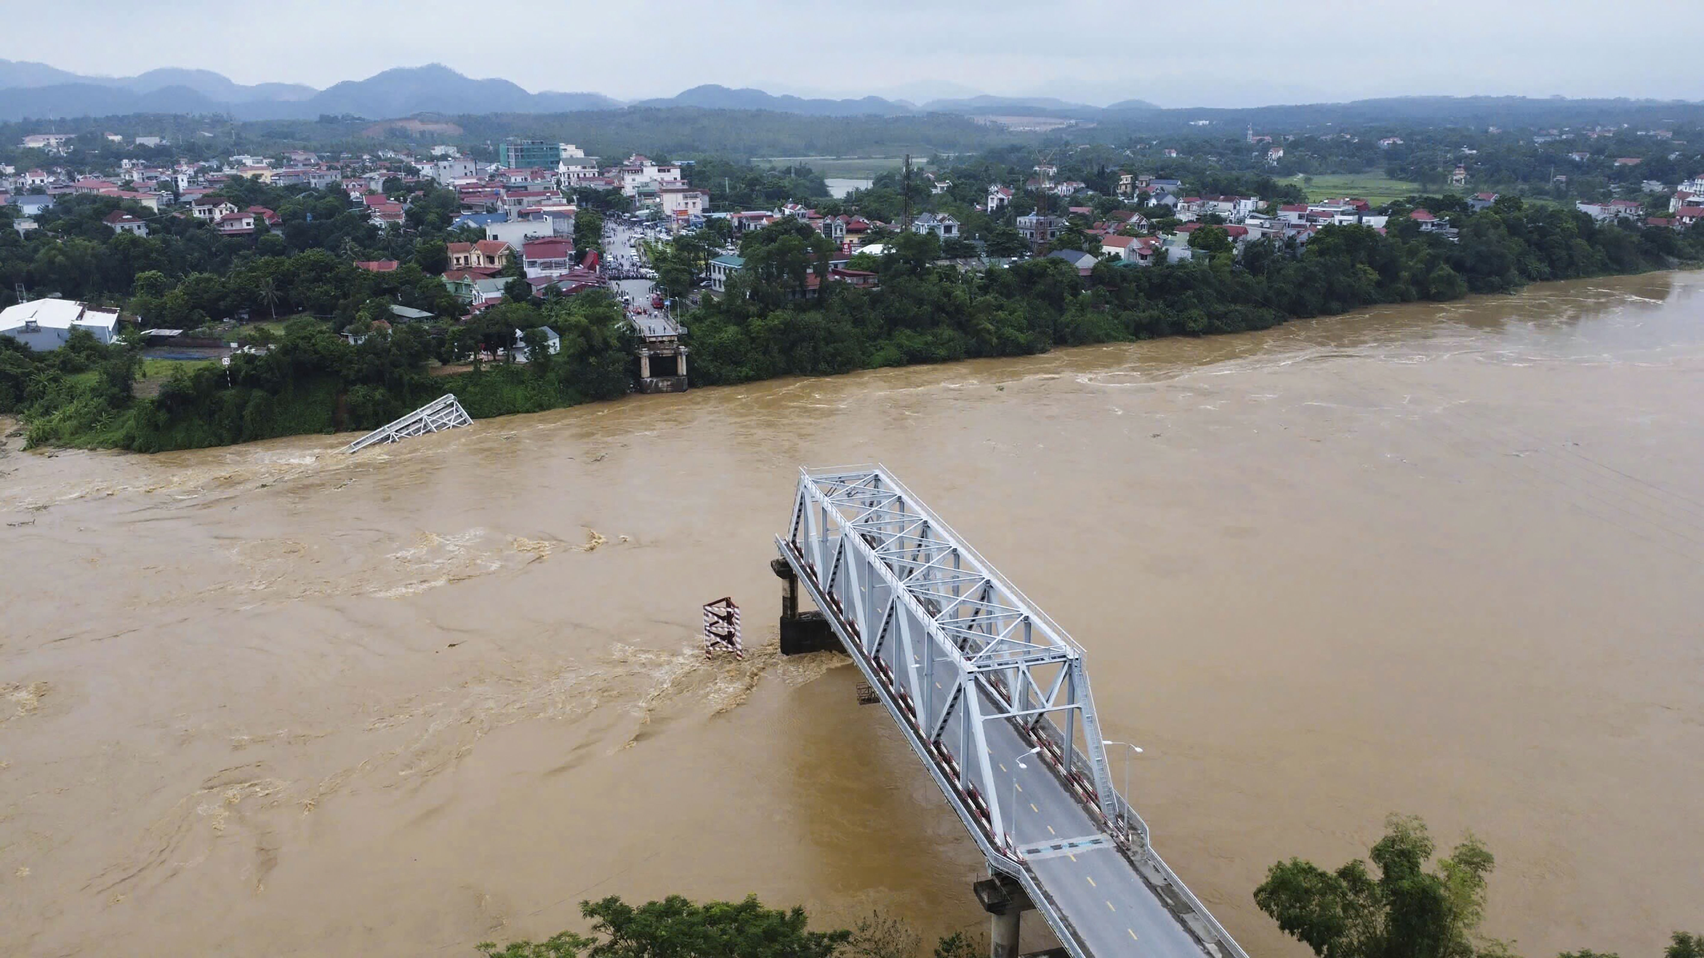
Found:
[{"label": "bushy green tree on near bank, right of the bridge road", "polygon": [[1479,936],[1486,876],[1494,864],[1467,835],[1436,871],[1426,871],[1435,846],[1426,824],[1390,815],[1385,835],[1365,861],[1336,871],[1292,858],[1273,864],[1254,890],[1278,927],[1321,958],[1476,958],[1506,953]]}]

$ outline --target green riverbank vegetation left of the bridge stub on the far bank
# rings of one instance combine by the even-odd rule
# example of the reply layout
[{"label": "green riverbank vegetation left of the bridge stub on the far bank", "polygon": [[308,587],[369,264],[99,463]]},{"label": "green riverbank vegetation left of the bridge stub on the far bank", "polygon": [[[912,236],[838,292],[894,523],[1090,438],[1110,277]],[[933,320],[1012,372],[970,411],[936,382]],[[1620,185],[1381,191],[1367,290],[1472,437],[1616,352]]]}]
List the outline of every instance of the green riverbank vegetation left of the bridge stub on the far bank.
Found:
[{"label": "green riverbank vegetation left of the bridge stub on the far bank", "polygon": [[[77,332],[63,349],[31,352],[0,337],[0,412],[22,415],[29,446],[140,453],[373,429],[452,391],[474,417],[542,412],[627,391],[632,342],[619,320],[620,306],[603,293],[503,303],[453,337],[409,325],[339,335],[300,316],[264,352],[239,352],[228,366],[176,362],[152,398],[135,395],[135,344],[102,345]],[[559,335],[554,354],[545,327]],[[479,361],[515,356],[516,330],[530,362]],[[440,359],[457,356],[475,359],[435,374]]]}]

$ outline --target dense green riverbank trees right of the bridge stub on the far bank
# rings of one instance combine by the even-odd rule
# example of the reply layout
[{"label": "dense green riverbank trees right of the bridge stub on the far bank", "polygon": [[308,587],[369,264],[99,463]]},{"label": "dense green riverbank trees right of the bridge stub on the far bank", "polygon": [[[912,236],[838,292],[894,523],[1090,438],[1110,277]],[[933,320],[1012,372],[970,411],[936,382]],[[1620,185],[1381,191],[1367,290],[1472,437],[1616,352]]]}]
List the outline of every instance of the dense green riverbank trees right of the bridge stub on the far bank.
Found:
[{"label": "dense green riverbank trees right of the bridge stub on the far bank", "polygon": [[[1421,206],[1448,218],[1459,237],[1423,231],[1408,218]],[[823,243],[789,221],[741,240],[746,267],[728,294],[687,316],[695,383],[1261,330],[1379,303],[1704,260],[1704,230],[1600,225],[1515,197],[1474,213],[1459,197],[1436,196],[1394,204],[1387,231],[1326,226],[1302,248],[1261,240],[1239,252],[1223,230],[1205,226],[1191,237],[1193,262],[1102,260],[1089,276],[1056,257],[966,271],[941,262],[934,237],[901,235],[886,255],[864,257],[879,289],[857,289],[828,281]],[[661,262],[673,265],[666,254]]]}]

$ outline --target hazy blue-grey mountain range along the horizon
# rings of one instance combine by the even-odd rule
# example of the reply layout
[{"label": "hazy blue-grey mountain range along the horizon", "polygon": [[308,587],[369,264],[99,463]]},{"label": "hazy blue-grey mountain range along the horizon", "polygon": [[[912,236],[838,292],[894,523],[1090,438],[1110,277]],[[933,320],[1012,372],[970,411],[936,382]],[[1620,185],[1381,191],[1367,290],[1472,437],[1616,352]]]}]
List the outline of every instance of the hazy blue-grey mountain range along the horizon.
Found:
[{"label": "hazy blue-grey mountain range along the horizon", "polygon": [[[901,99],[806,99],[714,83],[673,97],[622,102],[603,94],[532,94],[508,80],[474,80],[441,65],[385,70],[325,90],[300,83],[235,83],[211,70],[150,70],[138,77],[83,77],[46,63],[0,60],[0,119],[60,119],[136,112],[230,114],[237,119],[314,119],[353,114],[394,119],[421,112],[574,112],[648,107],[774,111],[803,116],[1036,114],[1091,119],[1087,104],[1055,99],[963,97],[913,104]],[[1157,109],[1126,100],[1118,109]]]}]

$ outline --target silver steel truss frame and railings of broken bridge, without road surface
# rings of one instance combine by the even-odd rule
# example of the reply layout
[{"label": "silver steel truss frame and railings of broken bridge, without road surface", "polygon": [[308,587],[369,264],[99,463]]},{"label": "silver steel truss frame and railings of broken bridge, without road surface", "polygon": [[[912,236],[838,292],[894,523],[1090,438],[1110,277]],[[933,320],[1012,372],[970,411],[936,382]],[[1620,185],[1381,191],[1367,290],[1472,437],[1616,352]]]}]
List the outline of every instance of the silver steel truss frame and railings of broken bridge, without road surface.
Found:
[{"label": "silver steel truss frame and railings of broken bridge, without road surface", "polygon": [[1012,839],[985,723],[1009,721],[1079,805],[1229,932],[1154,854],[1113,784],[1079,647],[883,466],[801,470],[775,545],[924,759],[990,868],[1017,880],[1074,958],[1092,958]]}]

